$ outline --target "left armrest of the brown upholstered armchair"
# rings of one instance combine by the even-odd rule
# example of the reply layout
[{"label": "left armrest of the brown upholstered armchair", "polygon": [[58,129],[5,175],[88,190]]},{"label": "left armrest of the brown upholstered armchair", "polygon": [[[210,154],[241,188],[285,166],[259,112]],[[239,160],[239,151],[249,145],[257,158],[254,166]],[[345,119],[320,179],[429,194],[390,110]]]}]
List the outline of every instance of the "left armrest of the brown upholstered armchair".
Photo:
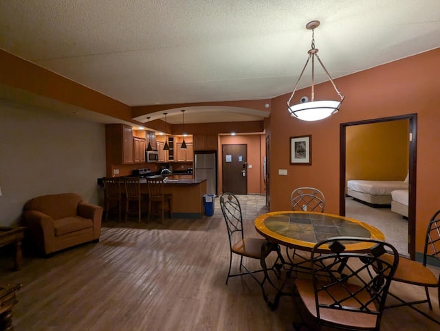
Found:
[{"label": "left armrest of the brown upholstered armchair", "polygon": [[53,251],[55,228],[52,217],[37,210],[28,210],[23,212],[23,221],[28,231],[34,233],[32,238],[36,245],[45,252]]}]

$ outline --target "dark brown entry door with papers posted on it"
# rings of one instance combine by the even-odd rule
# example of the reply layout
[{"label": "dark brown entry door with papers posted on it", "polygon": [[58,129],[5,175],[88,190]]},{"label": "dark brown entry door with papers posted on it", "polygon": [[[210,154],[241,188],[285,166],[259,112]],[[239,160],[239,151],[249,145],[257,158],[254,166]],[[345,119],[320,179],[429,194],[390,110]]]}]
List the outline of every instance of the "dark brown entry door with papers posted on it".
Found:
[{"label": "dark brown entry door with papers posted on it", "polygon": [[223,192],[248,194],[248,146],[222,145]]}]

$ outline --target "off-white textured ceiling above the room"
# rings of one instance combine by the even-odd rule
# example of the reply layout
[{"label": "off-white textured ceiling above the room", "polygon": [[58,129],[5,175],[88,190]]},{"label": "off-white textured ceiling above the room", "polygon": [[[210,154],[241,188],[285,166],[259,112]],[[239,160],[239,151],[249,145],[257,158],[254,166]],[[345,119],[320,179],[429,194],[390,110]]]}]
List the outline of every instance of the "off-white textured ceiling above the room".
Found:
[{"label": "off-white textured ceiling above the room", "polygon": [[440,46],[439,0],[4,0],[0,48],[130,106],[265,99],[292,91],[314,19],[333,78]]}]

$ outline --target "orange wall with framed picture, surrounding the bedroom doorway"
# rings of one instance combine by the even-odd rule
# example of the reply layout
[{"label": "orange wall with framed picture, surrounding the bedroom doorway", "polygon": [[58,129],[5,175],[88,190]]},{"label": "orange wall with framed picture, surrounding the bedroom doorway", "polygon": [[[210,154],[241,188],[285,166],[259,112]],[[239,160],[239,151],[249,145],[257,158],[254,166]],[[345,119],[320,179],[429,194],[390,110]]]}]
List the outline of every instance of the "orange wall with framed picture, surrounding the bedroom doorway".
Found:
[{"label": "orange wall with framed picture, surrounding the bedroom doorway", "polygon": [[[289,95],[272,100],[270,130],[270,207],[289,209],[294,187],[316,186],[326,197],[326,211],[339,212],[340,124],[394,115],[417,113],[416,251],[423,251],[426,226],[440,208],[440,48],[338,78],[345,95],[339,113],[319,122],[303,122],[289,116]],[[329,68],[331,71],[331,68]],[[309,89],[298,91],[294,103]],[[316,86],[317,100],[335,98],[328,82]],[[312,135],[312,164],[289,164],[289,137]],[[278,169],[288,176],[278,176]]]}]

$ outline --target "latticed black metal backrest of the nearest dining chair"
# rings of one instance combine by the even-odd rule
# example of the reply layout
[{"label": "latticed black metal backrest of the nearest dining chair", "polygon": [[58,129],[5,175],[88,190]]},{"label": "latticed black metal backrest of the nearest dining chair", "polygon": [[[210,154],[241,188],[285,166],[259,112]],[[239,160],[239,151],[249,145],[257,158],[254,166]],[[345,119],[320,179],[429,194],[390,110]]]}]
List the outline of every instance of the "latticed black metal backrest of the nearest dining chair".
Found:
[{"label": "latticed black metal backrest of the nearest dining chair", "polygon": [[[350,247],[360,242],[370,248],[351,251]],[[393,259],[384,258],[390,252]],[[318,319],[336,314],[341,317],[338,323],[343,324],[341,312],[358,313],[359,319],[375,315],[379,330],[388,288],[399,262],[397,250],[380,240],[334,237],[318,242],[311,260]]]}]

